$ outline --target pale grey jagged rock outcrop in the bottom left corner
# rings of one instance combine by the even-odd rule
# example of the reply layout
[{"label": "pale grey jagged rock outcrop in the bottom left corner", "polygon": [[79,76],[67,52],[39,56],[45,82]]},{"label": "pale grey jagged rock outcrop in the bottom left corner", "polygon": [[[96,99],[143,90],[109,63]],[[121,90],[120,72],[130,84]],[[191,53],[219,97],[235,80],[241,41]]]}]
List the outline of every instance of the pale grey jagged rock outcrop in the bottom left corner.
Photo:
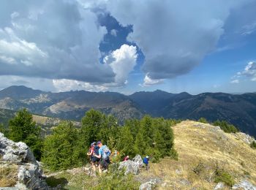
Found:
[{"label": "pale grey jagged rock outcrop in the bottom left corner", "polygon": [[13,142],[0,133],[1,166],[17,166],[15,176],[18,189],[48,189],[42,170],[24,142]]}]

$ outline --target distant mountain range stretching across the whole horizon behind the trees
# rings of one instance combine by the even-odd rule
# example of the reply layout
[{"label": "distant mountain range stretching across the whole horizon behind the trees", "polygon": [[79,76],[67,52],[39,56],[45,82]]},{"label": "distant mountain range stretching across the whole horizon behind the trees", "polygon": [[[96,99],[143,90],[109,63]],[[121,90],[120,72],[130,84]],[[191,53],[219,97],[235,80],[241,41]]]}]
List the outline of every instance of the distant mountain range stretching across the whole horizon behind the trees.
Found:
[{"label": "distant mountain range stretching across the whole horizon behind the trees", "polygon": [[[10,86],[0,91],[0,108],[80,121],[91,108],[112,114],[123,123],[127,118],[153,117],[225,120],[242,132],[256,137],[256,93],[225,94],[140,91],[126,96],[116,92],[45,92],[26,86]],[[1,123],[1,121],[0,121]]]}]

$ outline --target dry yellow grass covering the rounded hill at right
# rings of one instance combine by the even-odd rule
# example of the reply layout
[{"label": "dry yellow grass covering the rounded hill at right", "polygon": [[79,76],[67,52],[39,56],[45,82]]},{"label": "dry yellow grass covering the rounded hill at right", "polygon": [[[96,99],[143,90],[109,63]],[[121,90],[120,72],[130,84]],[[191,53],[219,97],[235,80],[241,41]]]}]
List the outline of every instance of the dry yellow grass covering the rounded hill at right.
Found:
[{"label": "dry yellow grass covering the rounded hill at right", "polygon": [[239,135],[195,121],[178,123],[173,132],[178,161],[162,159],[141,174],[161,178],[159,189],[213,189],[217,167],[233,175],[235,182],[246,179],[256,183],[256,151]]}]

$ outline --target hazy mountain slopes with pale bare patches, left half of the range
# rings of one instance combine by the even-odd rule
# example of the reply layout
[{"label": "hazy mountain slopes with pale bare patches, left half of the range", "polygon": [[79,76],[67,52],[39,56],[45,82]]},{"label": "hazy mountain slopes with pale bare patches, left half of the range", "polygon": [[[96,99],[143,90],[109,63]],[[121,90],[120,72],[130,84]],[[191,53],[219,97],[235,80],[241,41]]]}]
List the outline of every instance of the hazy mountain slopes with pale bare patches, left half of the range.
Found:
[{"label": "hazy mountain slopes with pale bare patches, left half of the range", "polygon": [[127,118],[141,118],[143,113],[128,96],[116,92],[69,91],[51,93],[25,86],[11,86],[0,91],[0,108],[80,121],[87,110],[94,108],[113,114],[121,123]]}]

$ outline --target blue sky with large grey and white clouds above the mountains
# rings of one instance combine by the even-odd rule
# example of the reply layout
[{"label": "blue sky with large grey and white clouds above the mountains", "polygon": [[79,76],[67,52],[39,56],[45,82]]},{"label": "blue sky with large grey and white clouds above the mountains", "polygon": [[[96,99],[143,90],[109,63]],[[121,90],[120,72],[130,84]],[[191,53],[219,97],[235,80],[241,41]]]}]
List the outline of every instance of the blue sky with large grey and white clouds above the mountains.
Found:
[{"label": "blue sky with large grey and white clouds above the mountains", "polygon": [[0,4],[0,89],[256,92],[256,0]]}]

